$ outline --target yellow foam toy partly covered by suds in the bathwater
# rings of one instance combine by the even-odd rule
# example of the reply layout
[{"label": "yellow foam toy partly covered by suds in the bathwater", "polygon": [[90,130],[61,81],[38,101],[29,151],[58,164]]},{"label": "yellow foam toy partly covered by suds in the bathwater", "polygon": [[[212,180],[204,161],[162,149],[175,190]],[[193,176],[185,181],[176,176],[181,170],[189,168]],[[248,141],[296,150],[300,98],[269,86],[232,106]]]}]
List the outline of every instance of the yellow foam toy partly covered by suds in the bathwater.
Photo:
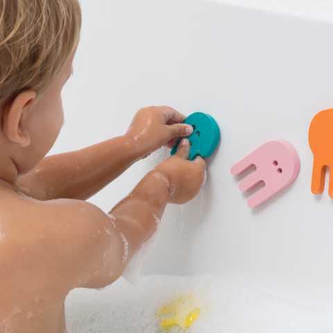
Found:
[{"label": "yellow foam toy partly covered by suds in the bathwater", "polygon": [[160,309],[157,314],[159,316],[169,315],[168,318],[160,322],[164,330],[169,330],[175,325],[178,325],[182,330],[186,330],[198,319],[200,309],[190,295],[182,295],[167,307]]}]

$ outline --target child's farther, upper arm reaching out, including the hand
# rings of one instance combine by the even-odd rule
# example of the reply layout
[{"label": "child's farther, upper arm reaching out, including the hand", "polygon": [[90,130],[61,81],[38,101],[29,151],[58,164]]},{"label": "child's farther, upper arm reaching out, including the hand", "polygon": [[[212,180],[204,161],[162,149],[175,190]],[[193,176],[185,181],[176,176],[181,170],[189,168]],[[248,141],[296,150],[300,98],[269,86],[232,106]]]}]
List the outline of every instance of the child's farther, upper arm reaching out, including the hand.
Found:
[{"label": "child's farther, upper arm reaching out, including the hand", "polygon": [[185,116],[167,106],[141,109],[126,132],[100,144],[71,153],[45,157],[18,188],[39,200],[86,200],[121,175],[128,167],[157,150],[187,136]]}]

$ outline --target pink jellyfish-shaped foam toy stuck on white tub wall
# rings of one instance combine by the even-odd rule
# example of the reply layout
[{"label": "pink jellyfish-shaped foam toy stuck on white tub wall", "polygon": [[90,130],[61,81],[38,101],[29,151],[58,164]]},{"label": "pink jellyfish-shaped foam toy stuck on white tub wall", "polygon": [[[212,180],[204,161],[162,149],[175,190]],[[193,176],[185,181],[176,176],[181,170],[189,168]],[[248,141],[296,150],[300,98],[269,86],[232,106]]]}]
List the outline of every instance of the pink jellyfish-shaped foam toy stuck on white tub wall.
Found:
[{"label": "pink jellyfish-shaped foam toy stuck on white tub wall", "polygon": [[300,172],[298,154],[284,140],[267,142],[231,168],[232,175],[239,175],[255,165],[257,171],[241,182],[239,189],[249,191],[260,182],[264,189],[248,200],[248,207],[258,207],[289,186]]}]

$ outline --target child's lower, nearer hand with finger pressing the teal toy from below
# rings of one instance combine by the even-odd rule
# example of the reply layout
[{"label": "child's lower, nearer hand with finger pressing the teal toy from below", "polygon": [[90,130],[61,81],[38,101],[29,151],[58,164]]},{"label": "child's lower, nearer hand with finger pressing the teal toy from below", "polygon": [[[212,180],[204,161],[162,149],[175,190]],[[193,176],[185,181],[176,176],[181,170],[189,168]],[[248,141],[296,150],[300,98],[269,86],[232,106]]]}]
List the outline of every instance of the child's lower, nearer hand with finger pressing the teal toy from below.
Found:
[{"label": "child's lower, nearer hand with finger pressing the teal toy from below", "polygon": [[163,171],[171,181],[169,202],[182,205],[193,199],[203,186],[206,162],[198,156],[192,162],[189,158],[189,140],[182,139],[175,155],[158,164],[154,170]]}]

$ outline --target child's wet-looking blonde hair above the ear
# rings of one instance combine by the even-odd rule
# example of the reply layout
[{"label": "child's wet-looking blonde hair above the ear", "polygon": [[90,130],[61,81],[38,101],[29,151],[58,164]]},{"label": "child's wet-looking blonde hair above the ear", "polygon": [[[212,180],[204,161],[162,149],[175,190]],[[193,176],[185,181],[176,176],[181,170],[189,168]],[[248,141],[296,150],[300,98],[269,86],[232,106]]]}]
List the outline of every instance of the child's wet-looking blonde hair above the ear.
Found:
[{"label": "child's wet-looking blonde hair above the ear", "polygon": [[78,0],[0,0],[0,103],[26,89],[42,94],[78,43]]}]

